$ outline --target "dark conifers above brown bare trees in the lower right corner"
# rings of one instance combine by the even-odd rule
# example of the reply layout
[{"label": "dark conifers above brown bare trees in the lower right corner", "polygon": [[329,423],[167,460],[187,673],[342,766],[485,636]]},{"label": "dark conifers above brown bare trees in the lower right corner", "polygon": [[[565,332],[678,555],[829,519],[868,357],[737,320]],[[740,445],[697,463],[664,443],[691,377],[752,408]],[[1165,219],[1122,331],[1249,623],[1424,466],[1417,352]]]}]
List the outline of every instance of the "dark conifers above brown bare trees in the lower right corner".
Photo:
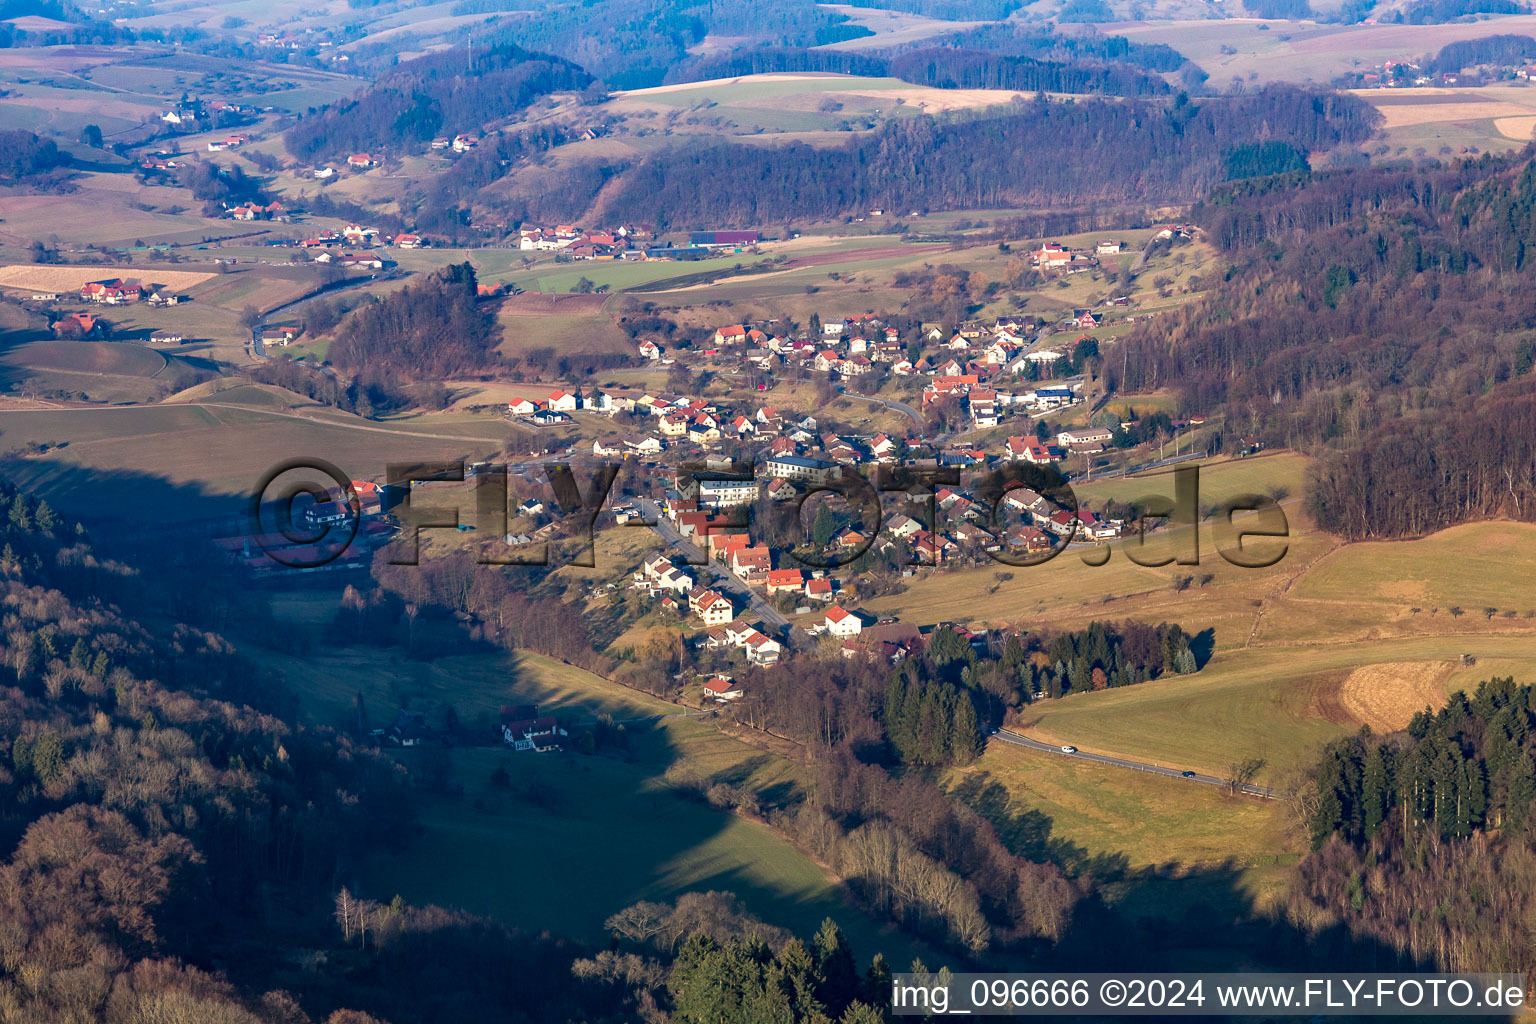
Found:
[{"label": "dark conifers above brown bare trees in the lower right corner", "polygon": [[1531,970],[1533,725],[1531,686],[1490,679],[1405,732],[1333,743],[1306,794],[1315,852],[1289,912],[1405,961]]}]

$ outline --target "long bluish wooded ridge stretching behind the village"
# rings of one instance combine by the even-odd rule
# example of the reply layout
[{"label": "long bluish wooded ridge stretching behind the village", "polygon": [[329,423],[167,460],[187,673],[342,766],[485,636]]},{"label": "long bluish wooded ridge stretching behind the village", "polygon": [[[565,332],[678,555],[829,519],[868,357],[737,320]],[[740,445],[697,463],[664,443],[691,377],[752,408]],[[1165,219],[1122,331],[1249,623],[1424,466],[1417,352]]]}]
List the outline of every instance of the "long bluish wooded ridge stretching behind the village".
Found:
[{"label": "long bluish wooded ridge stretching behind the village", "polygon": [[[908,118],[839,149],[696,143],[660,150],[604,189],[602,216],[657,227],[759,226],[871,207],[954,209],[1193,200],[1263,124],[1303,152],[1358,143],[1378,115],[1358,98],[1267,88],[1244,97],[1068,103]],[[594,183],[601,187],[601,181]],[[590,193],[564,198],[571,215]],[[548,215],[553,210],[542,210]]]}]

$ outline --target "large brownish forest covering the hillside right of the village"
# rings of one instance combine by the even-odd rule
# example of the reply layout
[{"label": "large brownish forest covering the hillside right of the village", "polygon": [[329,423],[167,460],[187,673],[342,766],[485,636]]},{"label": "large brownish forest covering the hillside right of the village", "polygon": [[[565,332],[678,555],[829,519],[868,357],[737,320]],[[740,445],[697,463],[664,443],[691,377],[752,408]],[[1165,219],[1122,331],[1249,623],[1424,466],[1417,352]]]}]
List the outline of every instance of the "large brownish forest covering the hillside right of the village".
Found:
[{"label": "large brownish forest covering the hillside right of the village", "polygon": [[1117,385],[1172,384],[1233,441],[1316,450],[1307,500],[1346,537],[1536,514],[1528,150],[1252,180],[1195,216],[1232,269],[1127,336]]}]

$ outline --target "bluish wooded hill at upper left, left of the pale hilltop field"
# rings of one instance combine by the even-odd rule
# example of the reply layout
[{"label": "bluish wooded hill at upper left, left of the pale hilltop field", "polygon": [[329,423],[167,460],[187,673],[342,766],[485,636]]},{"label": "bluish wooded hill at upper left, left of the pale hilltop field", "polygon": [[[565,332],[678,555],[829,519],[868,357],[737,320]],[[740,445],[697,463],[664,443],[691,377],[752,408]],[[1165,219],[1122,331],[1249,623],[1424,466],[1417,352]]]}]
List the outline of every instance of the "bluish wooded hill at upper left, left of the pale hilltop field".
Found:
[{"label": "bluish wooded hill at upper left, left of the pale hilltop field", "polygon": [[539,97],[588,84],[591,75],[570,61],[511,43],[450,49],[406,61],[352,100],[312,111],[287,130],[284,144],[304,161],[399,155],[441,135],[478,135]]}]

